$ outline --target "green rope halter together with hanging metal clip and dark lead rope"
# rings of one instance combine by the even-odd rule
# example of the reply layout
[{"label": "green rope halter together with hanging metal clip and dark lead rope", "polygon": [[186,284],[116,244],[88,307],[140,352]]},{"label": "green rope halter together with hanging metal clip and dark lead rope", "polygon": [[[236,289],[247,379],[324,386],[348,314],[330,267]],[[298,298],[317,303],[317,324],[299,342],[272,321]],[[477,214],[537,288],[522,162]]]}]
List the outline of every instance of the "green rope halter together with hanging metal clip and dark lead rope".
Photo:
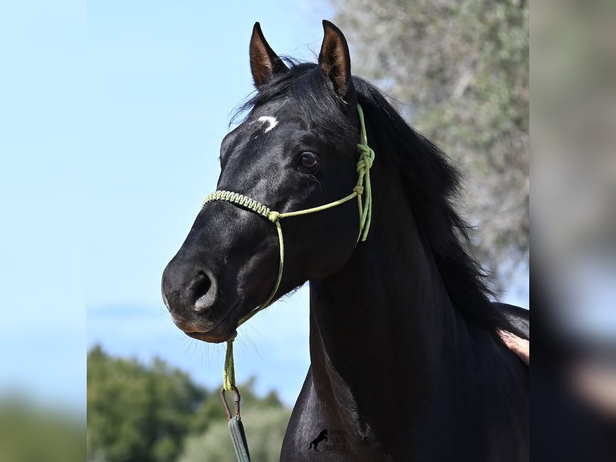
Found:
[{"label": "green rope halter together with hanging metal clip and dark lead rope", "polygon": [[[372,188],[370,185],[370,168],[375,160],[375,152],[368,146],[368,137],[366,136],[366,126],[363,120],[362,107],[357,104],[357,112],[359,113],[359,128],[360,128],[360,142],[357,144],[357,149],[360,152],[359,161],[357,161],[357,185],[353,188],[353,192],[340,200],[330,202],[329,204],[321,205],[318,207],[298,210],[295,212],[278,213],[272,211],[261,203],[253,200],[244,195],[230,192],[230,191],[214,191],[205,198],[201,209],[205,207],[208,202],[212,201],[227,201],[232,204],[241,206],[256,214],[264,216],[276,225],[278,232],[278,243],[280,248],[280,265],[278,265],[278,278],[274,285],[274,290],[267,298],[267,300],[261,304],[258,308],[252,310],[244,317],[240,318],[238,327],[248,321],[251,317],[256,315],[259,311],[267,308],[278,291],[280,281],[282,280],[282,272],[285,266],[285,243],[282,238],[282,227],[280,227],[280,219],[286,217],[293,217],[299,215],[306,215],[309,213],[320,212],[325,209],[335,207],[337,205],[344,204],[345,202],[357,197],[357,208],[359,209],[359,235],[357,241],[360,238],[365,241],[368,237],[368,230],[370,229],[370,221],[372,217]],[[364,194],[365,193],[365,194]],[[365,198],[362,203],[362,195]],[[233,440],[233,447],[235,448],[235,454],[237,455],[239,462],[250,462],[250,455],[248,453],[248,444],[246,443],[246,436],[244,434],[244,428],[240,419],[240,393],[235,387],[235,365],[233,364],[233,341],[235,337],[227,340],[227,353],[225,354],[225,368],[222,373],[222,390],[221,398],[227,411],[227,418],[229,418],[229,432],[231,439]],[[234,391],[235,396],[235,417],[233,418],[229,410],[229,405],[225,399],[225,391]]]}]

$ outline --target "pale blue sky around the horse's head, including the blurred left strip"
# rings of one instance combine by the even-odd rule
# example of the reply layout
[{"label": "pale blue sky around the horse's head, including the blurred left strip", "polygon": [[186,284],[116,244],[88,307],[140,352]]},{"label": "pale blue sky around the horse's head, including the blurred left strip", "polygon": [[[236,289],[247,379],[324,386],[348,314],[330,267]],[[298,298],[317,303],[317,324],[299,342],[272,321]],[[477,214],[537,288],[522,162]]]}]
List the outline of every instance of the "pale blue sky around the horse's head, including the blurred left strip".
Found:
[{"label": "pale blue sky around the horse's head, including the blurred left strip", "polygon": [[[220,386],[224,347],[172,325],[161,274],[215,188],[230,111],[253,91],[254,22],[279,54],[313,59],[331,16],[300,1],[3,11],[0,392],[84,408],[97,342]],[[306,288],[240,329],[235,360],[238,381],[257,375],[259,391],[294,402],[309,365]]]}]

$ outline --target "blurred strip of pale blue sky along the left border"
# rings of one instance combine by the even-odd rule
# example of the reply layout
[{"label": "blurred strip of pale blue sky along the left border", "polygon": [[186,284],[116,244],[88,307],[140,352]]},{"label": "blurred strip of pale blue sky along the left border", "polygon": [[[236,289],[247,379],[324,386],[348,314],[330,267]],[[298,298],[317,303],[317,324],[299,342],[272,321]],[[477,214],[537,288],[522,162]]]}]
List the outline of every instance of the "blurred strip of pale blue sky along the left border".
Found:
[{"label": "blurred strip of pale blue sky along the left border", "polygon": [[0,14],[0,397],[85,403],[85,6]]}]

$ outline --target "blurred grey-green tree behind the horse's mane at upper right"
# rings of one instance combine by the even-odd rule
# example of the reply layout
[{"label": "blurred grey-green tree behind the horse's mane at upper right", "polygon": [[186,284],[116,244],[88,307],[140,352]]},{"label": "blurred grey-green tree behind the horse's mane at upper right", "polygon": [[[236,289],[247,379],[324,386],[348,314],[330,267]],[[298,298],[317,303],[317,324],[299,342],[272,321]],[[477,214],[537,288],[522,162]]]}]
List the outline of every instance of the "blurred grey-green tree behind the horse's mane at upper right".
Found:
[{"label": "blurred grey-green tree behind the horse's mane at upper right", "polygon": [[354,73],[394,95],[402,114],[463,168],[477,257],[504,278],[527,266],[528,2],[331,2]]}]

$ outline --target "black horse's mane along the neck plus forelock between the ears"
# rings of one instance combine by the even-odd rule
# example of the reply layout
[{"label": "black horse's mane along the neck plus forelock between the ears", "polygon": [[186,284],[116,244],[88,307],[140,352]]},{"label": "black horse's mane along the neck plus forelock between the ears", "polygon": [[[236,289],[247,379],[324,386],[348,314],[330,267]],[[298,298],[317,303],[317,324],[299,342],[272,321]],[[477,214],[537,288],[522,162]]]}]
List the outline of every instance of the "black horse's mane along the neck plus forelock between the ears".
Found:
[{"label": "black horse's mane along the neck plus forelock between the ears", "polygon": [[[285,60],[290,69],[261,86],[237,108],[232,121],[270,100],[291,95],[311,125],[329,140],[340,145],[355,139],[357,127],[340,110],[346,103],[326,83],[317,65]],[[372,134],[368,131],[368,141],[378,158],[388,157],[405,179],[419,233],[432,249],[453,306],[477,326],[493,332],[507,329],[508,322],[491,302],[495,296],[490,275],[469,251],[470,227],[456,211],[462,193],[460,171],[436,144],[403,120],[381,91],[357,76],[352,81],[373,129]]]}]

